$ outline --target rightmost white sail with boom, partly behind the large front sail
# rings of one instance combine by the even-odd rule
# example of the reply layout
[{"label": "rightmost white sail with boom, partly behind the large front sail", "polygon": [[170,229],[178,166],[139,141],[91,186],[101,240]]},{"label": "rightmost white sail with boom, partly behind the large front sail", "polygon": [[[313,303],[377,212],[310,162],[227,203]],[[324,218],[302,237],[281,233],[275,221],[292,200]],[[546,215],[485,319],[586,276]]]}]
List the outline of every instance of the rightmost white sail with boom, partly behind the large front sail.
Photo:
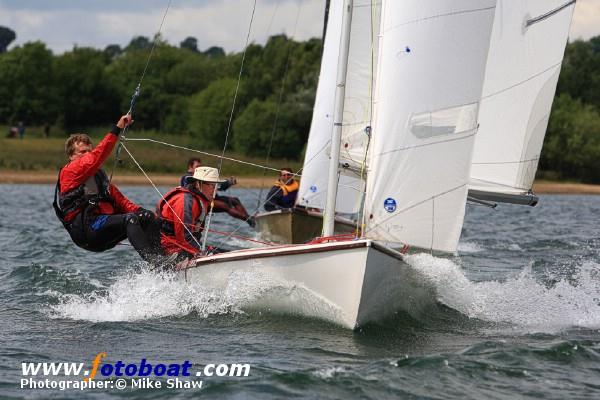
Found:
[{"label": "rightmost white sail with boom, partly behind the large front sail", "polygon": [[567,0],[498,0],[470,195],[519,202],[531,189],[574,8]]}]

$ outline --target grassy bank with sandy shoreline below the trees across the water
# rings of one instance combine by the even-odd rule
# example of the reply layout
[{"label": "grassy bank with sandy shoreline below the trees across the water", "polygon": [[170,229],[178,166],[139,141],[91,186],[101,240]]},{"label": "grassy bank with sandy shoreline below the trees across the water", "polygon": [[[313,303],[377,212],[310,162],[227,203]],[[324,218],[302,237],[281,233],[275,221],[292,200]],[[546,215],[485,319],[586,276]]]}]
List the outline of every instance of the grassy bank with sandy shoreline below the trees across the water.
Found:
[{"label": "grassy bank with sandy shoreline below the trees across the water", "polygon": [[[0,132],[7,131],[0,126]],[[94,128],[88,131],[94,143],[98,143],[105,135],[106,128]],[[0,183],[54,183],[56,172],[65,164],[64,142],[67,135],[53,128],[50,137],[45,138],[40,127],[27,128],[25,137],[20,139],[0,138]],[[128,137],[147,138],[188,149],[220,155],[221,149],[200,149],[194,138],[188,136],[159,135],[156,132],[132,130]],[[186,169],[190,157],[199,156],[204,164],[218,166],[218,158],[199,154],[191,150],[173,148],[158,143],[128,141],[126,146],[153,182],[159,185],[176,185],[179,177]],[[243,160],[249,163],[264,165],[265,160],[245,157],[233,152],[226,152],[226,157]],[[115,169],[115,182],[120,184],[148,184],[126,151],[121,152],[123,161]],[[110,171],[114,163],[111,156],[106,163]],[[275,159],[269,165],[274,168],[291,167],[299,170],[300,161]],[[239,177],[238,187],[270,186],[276,172],[249,166],[233,161],[223,162],[223,176]],[[562,182],[554,179],[537,180],[534,184],[536,193],[553,194],[600,194],[600,185],[588,185],[577,182]]]}]

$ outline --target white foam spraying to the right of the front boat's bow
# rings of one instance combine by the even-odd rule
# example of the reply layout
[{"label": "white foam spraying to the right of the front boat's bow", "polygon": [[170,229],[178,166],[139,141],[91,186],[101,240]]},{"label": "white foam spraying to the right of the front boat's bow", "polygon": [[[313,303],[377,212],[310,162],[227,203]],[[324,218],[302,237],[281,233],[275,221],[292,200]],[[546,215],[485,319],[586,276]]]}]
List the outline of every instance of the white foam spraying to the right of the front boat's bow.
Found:
[{"label": "white foam spraying to the right of the front boat's bow", "polygon": [[472,282],[451,260],[428,254],[407,257],[436,288],[437,300],[469,317],[510,323],[529,332],[600,327],[600,265],[587,261],[569,280],[547,288],[528,265],[504,282]]}]

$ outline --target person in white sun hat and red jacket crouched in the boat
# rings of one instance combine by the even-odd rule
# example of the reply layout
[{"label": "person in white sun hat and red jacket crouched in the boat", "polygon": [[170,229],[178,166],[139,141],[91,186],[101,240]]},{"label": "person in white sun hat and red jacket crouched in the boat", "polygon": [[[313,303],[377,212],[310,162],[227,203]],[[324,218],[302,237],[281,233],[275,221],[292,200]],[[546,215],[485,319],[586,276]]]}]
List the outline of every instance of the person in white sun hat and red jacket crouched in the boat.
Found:
[{"label": "person in white sun hat and red jacket crouched in the boat", "polygon": [[185,187],[178,186],[167,193],[157,205],[162,219],[160,242],[167,254],[178,254],[179,259],[200,253],[204,221],[210,212],[219,171],[212,167],[198,167],[187,178]]}]

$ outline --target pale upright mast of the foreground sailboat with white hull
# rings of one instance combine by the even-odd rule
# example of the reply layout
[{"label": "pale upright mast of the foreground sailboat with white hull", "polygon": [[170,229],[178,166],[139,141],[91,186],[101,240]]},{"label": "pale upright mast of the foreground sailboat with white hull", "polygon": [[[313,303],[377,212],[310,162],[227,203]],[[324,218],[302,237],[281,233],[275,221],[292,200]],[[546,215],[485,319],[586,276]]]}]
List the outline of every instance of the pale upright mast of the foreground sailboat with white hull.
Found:
[{"label": "pale upright mast of the foreground sailboat with white hull", "polygon": [[331,134],[331,158],[329,161],[329,182],[327,186],[327,203],[323,218],[323,236],[331,236],[335,224],[335,199],[337,197],[338,168],[342,137],[342,121],[344,117],[344,98],[346,91],[346,72],[348,70],[348,53],[350,49],[350,27],[352,25],[353,0],[346,0],[345,16],[342,23],[340,40],[340,57],[338,58],[337,85],[335,90],[335,108],[333,114],[333,131]]}]

